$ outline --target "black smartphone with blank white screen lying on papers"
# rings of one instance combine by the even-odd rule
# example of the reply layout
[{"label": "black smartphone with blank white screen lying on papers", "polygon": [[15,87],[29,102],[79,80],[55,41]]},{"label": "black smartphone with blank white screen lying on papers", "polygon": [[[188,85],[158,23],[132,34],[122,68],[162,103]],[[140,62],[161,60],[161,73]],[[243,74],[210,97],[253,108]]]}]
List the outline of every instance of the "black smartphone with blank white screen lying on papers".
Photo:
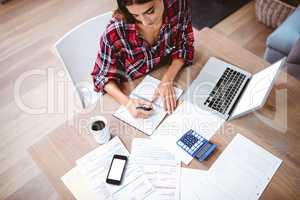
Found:
[{"label": "black smartphone with blank white screen lying on papers", "polygon": [[106,183],[120,185],[125,172],[127,157],[122,155],[114,155],[109,171],[106,177]]}]

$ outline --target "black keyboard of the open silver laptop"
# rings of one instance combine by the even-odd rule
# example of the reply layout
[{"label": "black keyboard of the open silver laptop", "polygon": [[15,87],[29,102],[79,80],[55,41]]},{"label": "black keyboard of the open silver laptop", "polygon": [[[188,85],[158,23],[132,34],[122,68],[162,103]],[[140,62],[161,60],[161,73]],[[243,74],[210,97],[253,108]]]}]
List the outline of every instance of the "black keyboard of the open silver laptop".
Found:
[{"label": "black keyboard of the open silver laptop", "polygon": [[225,114],[245,78],[246,75],[226,68],[204,105]]}]

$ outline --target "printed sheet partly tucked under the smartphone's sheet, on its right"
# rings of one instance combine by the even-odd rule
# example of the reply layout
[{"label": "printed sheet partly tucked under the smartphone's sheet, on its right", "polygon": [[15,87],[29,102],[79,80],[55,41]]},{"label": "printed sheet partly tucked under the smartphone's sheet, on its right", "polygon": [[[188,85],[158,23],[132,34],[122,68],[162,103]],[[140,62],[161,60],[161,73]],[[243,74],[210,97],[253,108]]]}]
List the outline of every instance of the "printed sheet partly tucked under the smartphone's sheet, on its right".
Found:
[{"label": "printed sheet partly tucked under the smartphone's sheet, on its right", "polygon": [[156,140],[135,138],[131,157],[154,187],[146,199],[176,200],[180,191],[180,161]]}]

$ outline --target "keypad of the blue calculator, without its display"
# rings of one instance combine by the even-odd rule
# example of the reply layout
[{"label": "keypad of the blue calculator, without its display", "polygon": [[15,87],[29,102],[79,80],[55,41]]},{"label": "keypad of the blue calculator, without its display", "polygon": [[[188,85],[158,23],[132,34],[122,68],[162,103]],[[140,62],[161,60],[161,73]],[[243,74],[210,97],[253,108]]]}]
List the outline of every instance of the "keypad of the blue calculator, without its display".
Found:
[{"label": "keypad of the blue calculator, without its display", "polygon": [[193,130],[188,131],[184,134],[178,141],[177,144],[184,149],[190,155],[202,147],[207,142],[200,134],[196,133]]}]

